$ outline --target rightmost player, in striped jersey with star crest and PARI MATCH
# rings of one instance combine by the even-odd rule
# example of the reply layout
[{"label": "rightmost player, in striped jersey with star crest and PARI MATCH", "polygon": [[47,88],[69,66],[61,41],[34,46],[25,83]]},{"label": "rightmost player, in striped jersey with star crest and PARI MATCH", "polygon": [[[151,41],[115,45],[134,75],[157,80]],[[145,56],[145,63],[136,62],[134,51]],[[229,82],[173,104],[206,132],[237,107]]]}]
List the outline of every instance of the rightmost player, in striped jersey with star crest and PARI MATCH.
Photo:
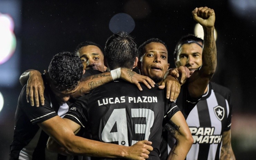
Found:
[{"label": "rightmost player, in striped jersey with star crest and PARI MATCH", "polygon": [[[177,42],[174,51],[176,66],[186,66],[193,73],[202,65],[203,40],[186,35]],[[204,95],[186,119],[194,144],[186,160],[234,160],[231,147],[232,102],[230,90],[210,82]]]}]

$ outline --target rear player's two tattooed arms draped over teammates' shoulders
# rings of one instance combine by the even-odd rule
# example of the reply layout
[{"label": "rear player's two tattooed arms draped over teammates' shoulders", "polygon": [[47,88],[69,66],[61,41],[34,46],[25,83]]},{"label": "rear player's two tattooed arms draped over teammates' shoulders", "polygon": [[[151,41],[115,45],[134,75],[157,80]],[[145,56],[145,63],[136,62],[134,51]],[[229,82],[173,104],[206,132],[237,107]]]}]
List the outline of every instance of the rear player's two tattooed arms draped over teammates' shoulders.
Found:
[{"label": "rear player's two tattooed arms draped over teammates' shoulders", "polygon": [[[155,82],[147,76],[139,75],[136,72],[127,70],[126,68],[121,68],[119,73],[119,78],[124,79],[132,84],[135,84],[139,90],[142,90],[140,83],[145,84],[148,88],[154,87]],[[85,93],[90,92],[90,90],[111,82],[115,79],[111,76],[110,72],[104,72],[97,75],[92,75],[82,79],[79,84],[77,92],[73,95],[74,97],[82,96]],[[24,86],[27,83],[26,95],[27,102],[30,102],[31,106],[40,104],[44,105],[44,83],[41,73],[37,70],[27,70],[20,76],[20,83]]]}]

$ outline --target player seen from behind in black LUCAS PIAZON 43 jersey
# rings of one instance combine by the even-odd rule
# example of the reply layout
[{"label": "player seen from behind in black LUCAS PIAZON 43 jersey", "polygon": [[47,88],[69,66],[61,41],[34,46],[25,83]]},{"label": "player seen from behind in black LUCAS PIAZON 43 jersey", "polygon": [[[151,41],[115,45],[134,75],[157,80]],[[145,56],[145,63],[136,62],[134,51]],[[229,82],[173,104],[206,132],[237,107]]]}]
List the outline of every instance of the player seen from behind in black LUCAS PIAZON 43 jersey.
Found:
[{"label": "player seen from behind in black LUCAS PIAZON 43 jersey", "polygon": [[[111,75],[118,77],[120,67],[129,70],[136,67],[137,45],[128,34],[113,34],[106,42],[105,58]],[[181,126],[180,134],[188,135],[186,146],[181,147],[190,146],[193,142],[191,133],[175,103],[166,99],[165,91],[157,86],[152,89],[142,87],[143,90],[139,91],[120,79],[99,86],[88,96],[77,99],[64,119],[74,132],[85,128],[93,140],[122,146],[131,146],[143,139],[152,140],[154,150],[149,159],[159,159],[162,124],[166,122]],[[56,143],[51,138],[48,144],[49,149],[63,152],[63,149],[55,148]]]}]

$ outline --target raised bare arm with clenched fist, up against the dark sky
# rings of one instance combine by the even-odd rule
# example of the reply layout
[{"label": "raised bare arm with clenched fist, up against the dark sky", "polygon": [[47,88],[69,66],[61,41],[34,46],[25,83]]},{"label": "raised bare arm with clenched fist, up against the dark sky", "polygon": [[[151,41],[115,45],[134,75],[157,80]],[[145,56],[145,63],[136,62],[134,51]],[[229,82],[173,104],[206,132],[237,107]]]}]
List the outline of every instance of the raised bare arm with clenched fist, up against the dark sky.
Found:
[{"label": "raised bare arm with clenched fist, up against the dark sky", "polygon": [[204,93],[217,66],[217,50],[214,39],[215,13],[213,9],[200,7],[195,8],[192,15],[194,20],[203,26],[204,31],[202,66],[188,79],[190,96],[199,97]]}]

